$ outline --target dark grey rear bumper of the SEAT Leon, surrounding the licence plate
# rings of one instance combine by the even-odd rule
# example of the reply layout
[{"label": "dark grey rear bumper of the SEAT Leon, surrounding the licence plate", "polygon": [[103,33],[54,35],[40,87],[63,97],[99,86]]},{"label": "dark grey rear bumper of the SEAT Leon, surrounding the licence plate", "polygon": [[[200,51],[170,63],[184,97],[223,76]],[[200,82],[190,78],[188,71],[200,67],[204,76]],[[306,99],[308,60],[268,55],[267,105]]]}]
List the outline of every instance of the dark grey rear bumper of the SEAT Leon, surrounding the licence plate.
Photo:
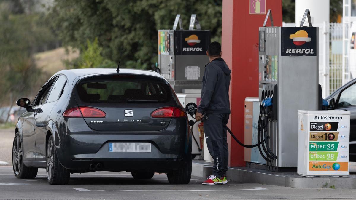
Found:
[{"label": "dark grey rear bumper of the SEAT Leon, surrounding the licence plate", "polygon": [[[192,136],[186,120],[179,121],[178,124],[177,121],[171,122],[162,131],[110,134],[83,126],[80,132],[69,131],[72,124],[64,129],[66,132],[59,131],[54,135],[57,156],[63,167],[81,172],[90,171],[89,166],[93,163],[100,163],[100,170],[108,171],[148,169],[166,172],[180,169],[191,159]],[[110,142],[151,143],[151,152],[109,152]]]}]

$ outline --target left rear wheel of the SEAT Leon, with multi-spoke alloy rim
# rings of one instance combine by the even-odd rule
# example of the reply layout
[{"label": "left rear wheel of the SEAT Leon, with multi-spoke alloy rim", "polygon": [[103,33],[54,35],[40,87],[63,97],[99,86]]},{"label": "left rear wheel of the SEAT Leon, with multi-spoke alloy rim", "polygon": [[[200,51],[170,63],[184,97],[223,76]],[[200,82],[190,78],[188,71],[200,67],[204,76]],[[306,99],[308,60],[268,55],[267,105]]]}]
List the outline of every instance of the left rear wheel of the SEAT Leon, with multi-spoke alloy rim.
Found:
[{"label": "left rear wheel of the SEAT Leon, with multi-spoke alloy rim", "polygon": [[59,163],[52,136],[49,136],[47,142],[46,172],[48,183],[51,185],[64,185],[69,181],[70,170]]}]

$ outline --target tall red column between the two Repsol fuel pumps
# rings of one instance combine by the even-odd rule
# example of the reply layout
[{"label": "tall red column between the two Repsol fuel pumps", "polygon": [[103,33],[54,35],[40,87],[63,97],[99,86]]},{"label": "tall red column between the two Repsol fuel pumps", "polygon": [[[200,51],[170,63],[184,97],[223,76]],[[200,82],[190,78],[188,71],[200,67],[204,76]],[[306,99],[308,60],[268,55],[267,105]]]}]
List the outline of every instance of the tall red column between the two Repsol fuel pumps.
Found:
[{"label": "tall red column between the two Repsol fuel pumps", "polygon": [[[250,14],[250,0],[223,1],[222,57],[232,70],[228,126],[242,142],[245,98],[258,96],[258,27],[263,26],[268,9],[272,11],[274,26],[282,26],[282,0],[260,1],[266,2],[265,14]],[[260,12],[264,10],[262,5]],[[271,26],[269,21],[266,26]],[[229,166],[245,166],[244,148],[231,137],[228,143]]]}]

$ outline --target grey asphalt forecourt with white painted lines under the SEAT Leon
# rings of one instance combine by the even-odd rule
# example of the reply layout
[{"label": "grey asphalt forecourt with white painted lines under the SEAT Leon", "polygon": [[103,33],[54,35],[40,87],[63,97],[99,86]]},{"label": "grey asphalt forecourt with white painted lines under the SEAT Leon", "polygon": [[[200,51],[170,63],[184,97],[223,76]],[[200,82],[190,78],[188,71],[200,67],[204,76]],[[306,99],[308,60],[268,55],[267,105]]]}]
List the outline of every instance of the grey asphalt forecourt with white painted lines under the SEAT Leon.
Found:
[{"label": "grey asphalt forecourt with white painted lines under the SEAT Leon", "polygon": [[12,167],[0,167],[0,199],[355,199],[355,189],[299,189],[229,181],[170,185],[165,174],[136,180],[127,172],[71,174],[67,185],[49,185],[45,169],[35,179],[15,178]]}]

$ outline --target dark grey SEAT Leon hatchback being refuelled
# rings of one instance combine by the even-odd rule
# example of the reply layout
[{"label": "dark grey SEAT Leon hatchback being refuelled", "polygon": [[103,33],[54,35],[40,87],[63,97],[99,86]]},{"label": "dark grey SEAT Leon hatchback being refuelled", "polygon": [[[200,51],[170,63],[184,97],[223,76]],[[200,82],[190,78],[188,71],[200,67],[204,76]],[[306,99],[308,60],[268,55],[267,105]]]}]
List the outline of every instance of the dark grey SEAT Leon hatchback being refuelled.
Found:
[{"label": "dark grey SEAT Leon hatchback being refuelled", "polygon": [[54,74],[25,107],[15,128],[17,178],[47,169],[49,184],[70,173],[127,171],[134,178],[166,173],[187,184],[192,133],[187,114],[160,74],[136,69],[72,69]]}]

